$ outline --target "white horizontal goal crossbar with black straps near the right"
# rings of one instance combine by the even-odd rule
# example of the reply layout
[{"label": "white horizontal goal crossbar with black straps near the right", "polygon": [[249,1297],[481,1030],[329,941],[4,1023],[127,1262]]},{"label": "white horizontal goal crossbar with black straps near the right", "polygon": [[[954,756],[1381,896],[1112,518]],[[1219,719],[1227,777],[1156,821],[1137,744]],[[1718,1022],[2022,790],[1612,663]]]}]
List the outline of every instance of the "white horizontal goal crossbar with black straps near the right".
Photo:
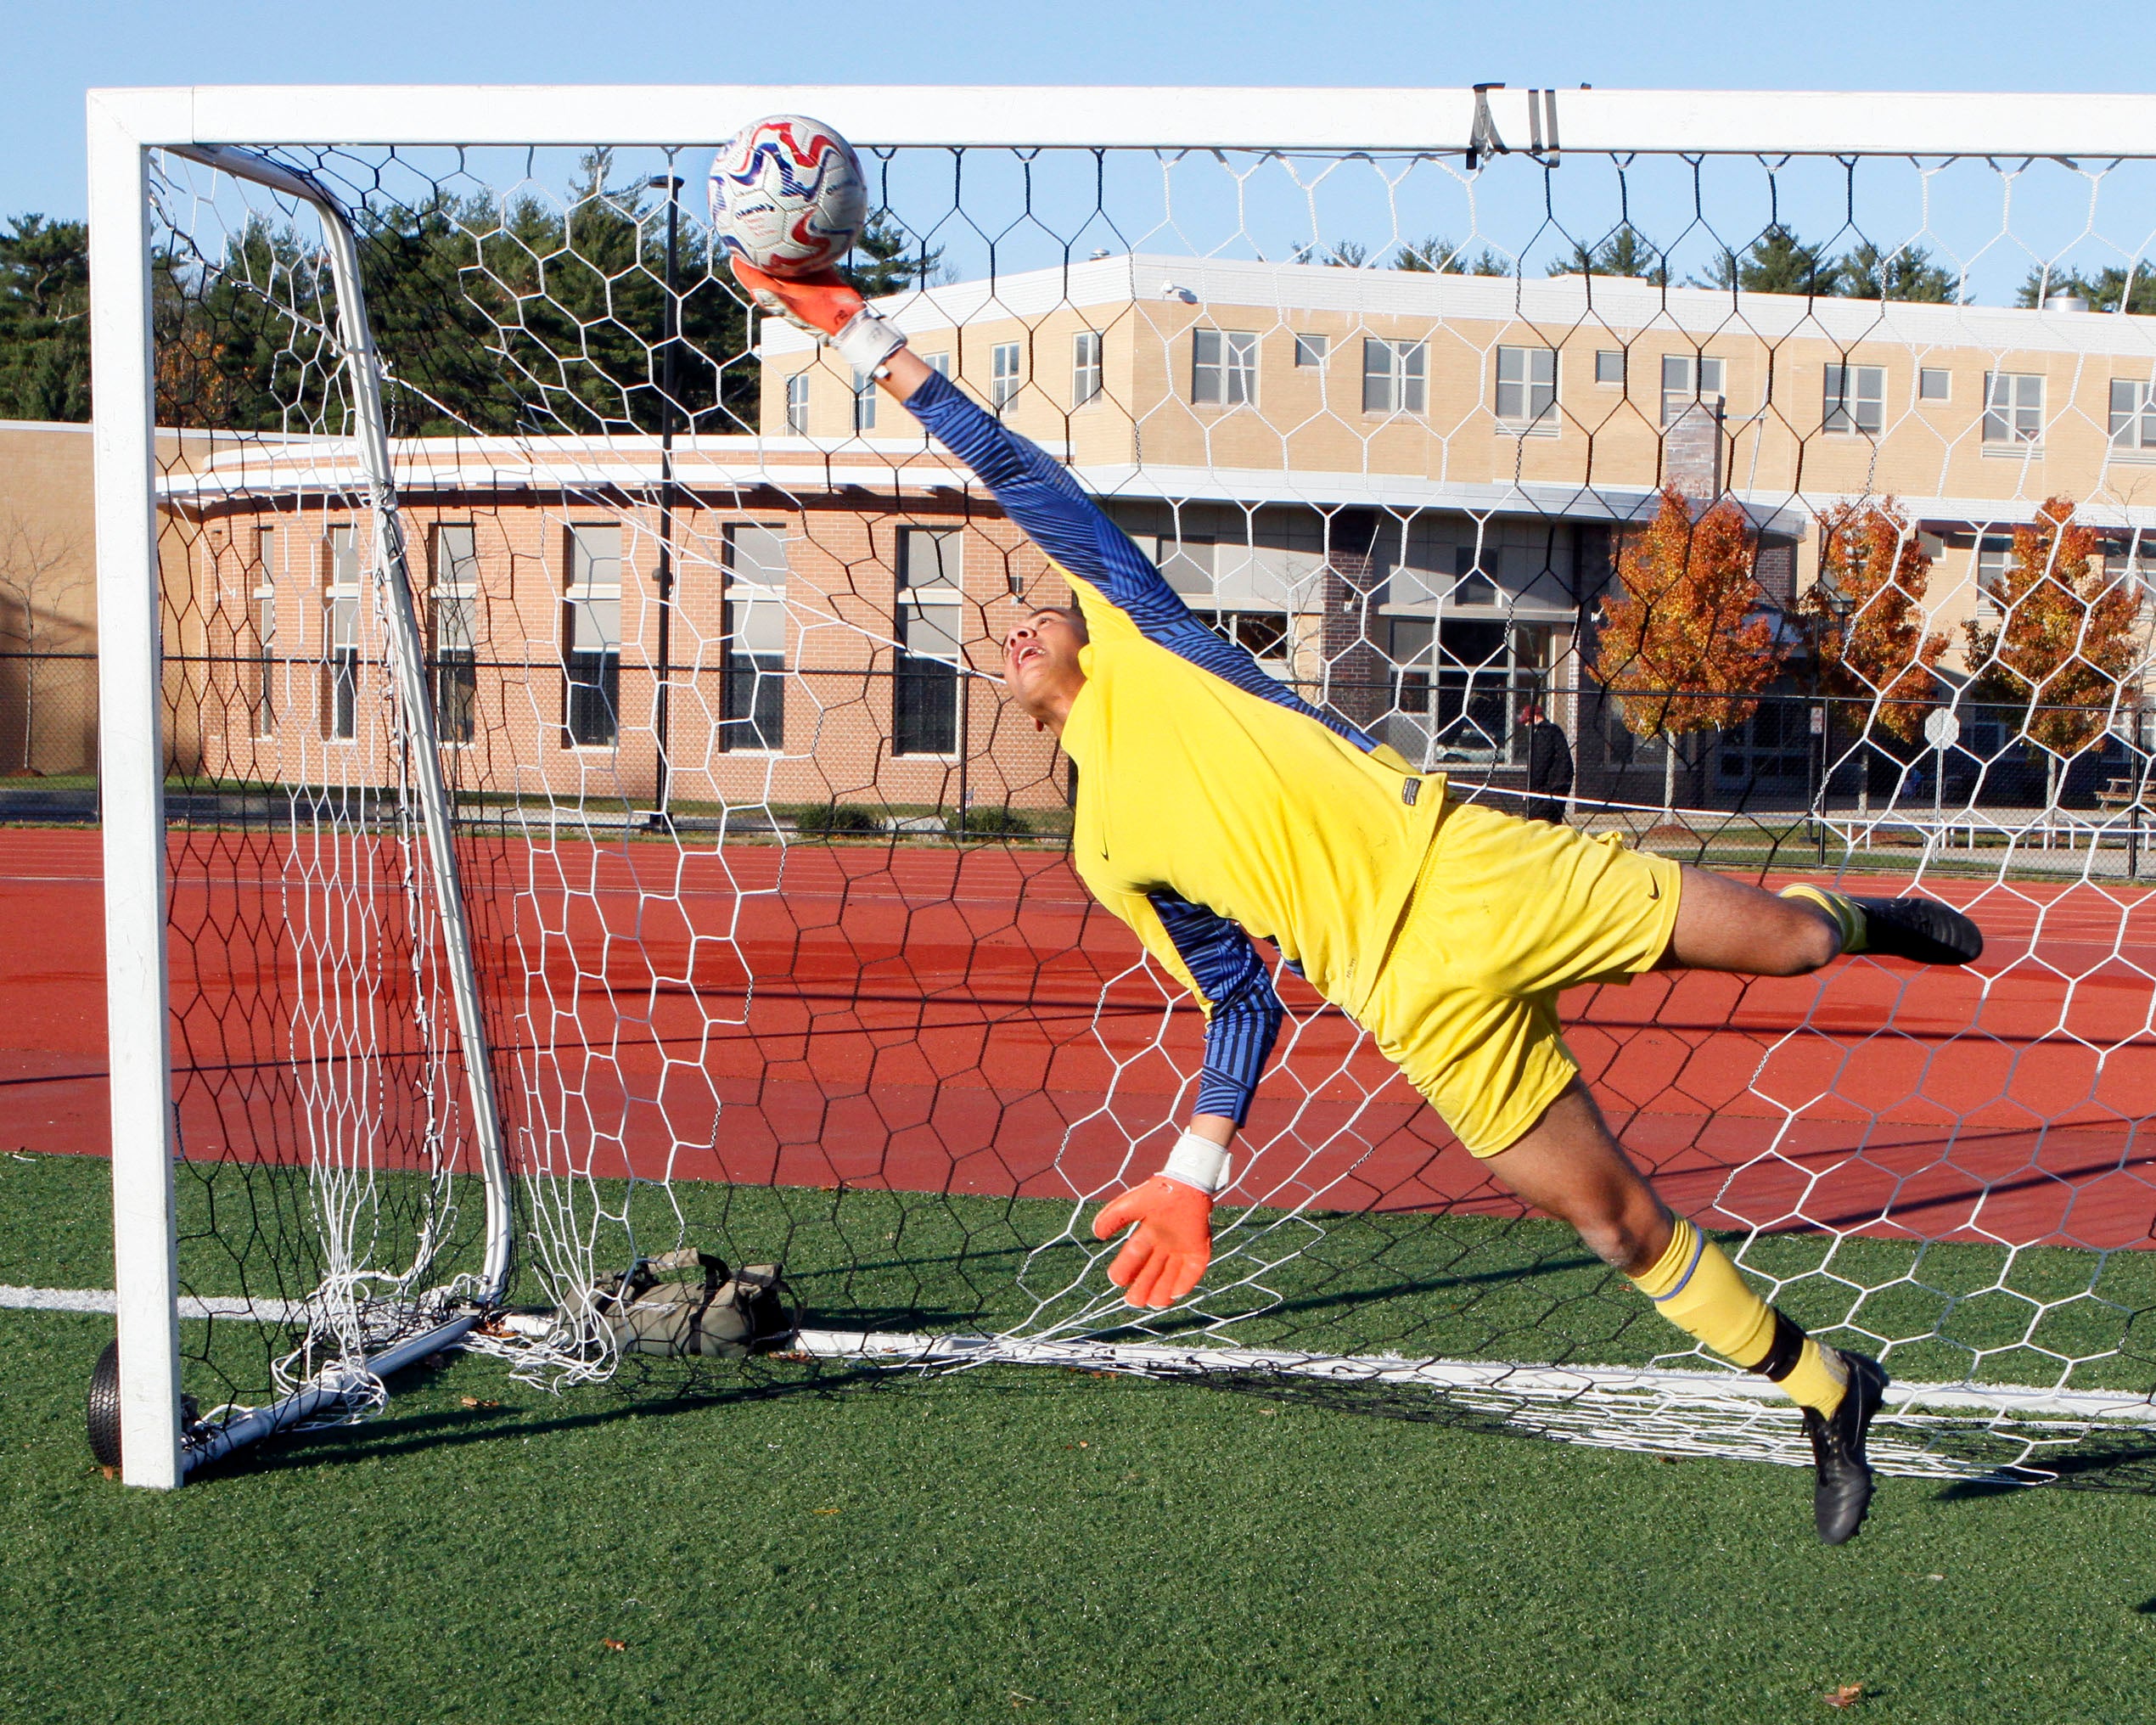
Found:
[{"label": "white horizontal goal crossbar with black straps near the right", "polygon": [[[2139,95],[1912,91],[1531,91],[1024,84],[205,84],[91,91],[138,147],[718,142],[763,112],[845,114],[858,144],[1457,151],[1485,114],[1505,149],[1699,155],[2156,155]],[[565,112],[571,123],[565,127]]]}]

